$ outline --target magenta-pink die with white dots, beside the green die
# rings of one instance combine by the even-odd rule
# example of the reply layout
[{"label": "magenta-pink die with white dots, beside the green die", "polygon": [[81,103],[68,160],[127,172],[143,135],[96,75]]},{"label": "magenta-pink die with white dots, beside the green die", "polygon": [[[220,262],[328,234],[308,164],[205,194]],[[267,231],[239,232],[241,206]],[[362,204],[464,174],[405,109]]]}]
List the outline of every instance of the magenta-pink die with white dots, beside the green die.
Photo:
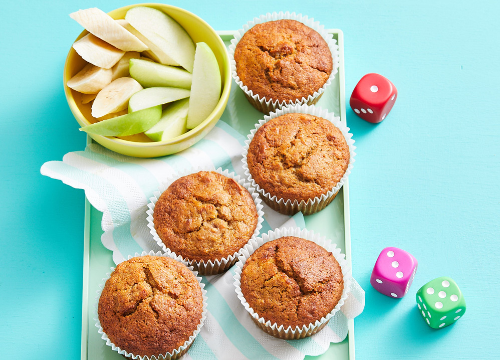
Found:
[{"label": "magenta-pink die with white dots, beside the green die", "polygon": [[378,256],[370,283],[384,295],[401,298],[408,292],[416,271],[417,259],[413,255],[388,247]]}]

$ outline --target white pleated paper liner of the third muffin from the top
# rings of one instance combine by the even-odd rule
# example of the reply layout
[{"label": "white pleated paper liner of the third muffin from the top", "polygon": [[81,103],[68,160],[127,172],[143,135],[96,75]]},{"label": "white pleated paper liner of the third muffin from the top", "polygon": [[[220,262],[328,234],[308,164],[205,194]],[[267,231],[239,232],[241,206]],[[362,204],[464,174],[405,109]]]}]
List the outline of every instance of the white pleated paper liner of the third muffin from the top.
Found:
[{"label": "white pleated paper liner of the third muffin from the top", "polygon": [[[146,212],[148,217],[147,217],[147,221],[148,221],[148,228],[150,229],[150,233],[151,235],[153,235],[153,238],[154,240],[156,241],[156,243],[158,244],[158,246],[160,246],[163,251],[166,253],[166,254],[171,254],[172,256],[177,256],[177,255],[180,255],[182,256],[181,254],[176,254],[175,252],[173,252],[172,250],[170,250],[168,247],[165,246],[165,244],[163,243],[163,241],[161,240],[161,238],[158,236],[158,233],[156,232],[156,229],[154,227],[154,220],[153,220],[153,213],[154,213],[154,207],[156,205],[156,202],[158,201],[158,199],[160,198],[161,194],[174,182],[176,181],[178,178],[182,177],[182,176],[185,176],[185,175],[189,175],[189,174],[192,174],[192,173],[196,173],[198,171],[215,171],[215,172],[218,172],[226,177],[229,177],[229,178],[232,178],[234,179],[234,181],[236,183],[238,183],[240,186],[242,186],[243,188],[245,188],[248,193],[250,193],[250,195],[252,196],[252,198],[254,199],[254,204],[256,206],[256,209],[257,209],[257,215],[259,216],[258,220],[257,220],[257,227],[254,231],[254,234],[252,235],[252,237],[250,239],[248,239],[248,242],[257,238],[257,236],[259,236],[259,233],[260,233],[260,230],[262,229],[262,223],[264,221],[264,211],[263,211],[263,205],[262,205],[262,200],[261,198],[259,197],[259,193],[256,191],[256,189],[254,187],[252,187],[247,181],[245,178],[242,178],[241,176],[239,175],[236,175],[234,172],[229,172],[229,170],[225,169],[223,170],[221,167],[215,169],[212,165],[204,165],[204,166],[198,166],[196,168],[191,168],[191,169],[185,169],[181,172],[178,172],[174,175],[172,175],[170,178],[166,179],[165,182],[160,186],[160,188],[158,189],[158,191],[155,191],[153,193],[153,196],[149,199],[149,204],[148,204],[148,208],[149,210]],[[247,242],[247,244],[248,244]],[[196,271],[198,271],[200,273],[200,275],[214,275],[214,274],[219,274],[221,272],[224,272],[226,271],[227,269],[229,269],[232,265],[234,265],[234,263],[237,261],[237,258],[238,256],[241,254],[241,252],[243,251],[244,247],[246,246],[246,244],[241,248],[239,249],[237,252],[235,252],[234,254],[231,254],[225,258],[221,258],[221,259],[215,259],[215,260],[209,260],[209,261],[196,261],[196,260],[191,260],[191,259],[188,259],[187,257],[182,257],[182,259],[186,262],[188,262],[191,266],[194,267],[194,269]]]}]

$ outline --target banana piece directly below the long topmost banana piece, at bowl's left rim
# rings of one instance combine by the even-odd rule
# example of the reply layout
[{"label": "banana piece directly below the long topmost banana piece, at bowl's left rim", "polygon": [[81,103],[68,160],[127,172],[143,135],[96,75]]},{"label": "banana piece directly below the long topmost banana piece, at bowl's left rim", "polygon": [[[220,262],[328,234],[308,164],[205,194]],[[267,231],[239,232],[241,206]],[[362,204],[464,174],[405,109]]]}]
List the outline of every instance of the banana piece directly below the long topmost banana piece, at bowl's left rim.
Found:
[{"label": "banana piece directly below the long topmost banana piece, at bowl's left rim", "polygon": [[105,69],[112,68],[125,54],[123,50],[109,45],[92,34],[75,41],[73,49],[85,61]]}]

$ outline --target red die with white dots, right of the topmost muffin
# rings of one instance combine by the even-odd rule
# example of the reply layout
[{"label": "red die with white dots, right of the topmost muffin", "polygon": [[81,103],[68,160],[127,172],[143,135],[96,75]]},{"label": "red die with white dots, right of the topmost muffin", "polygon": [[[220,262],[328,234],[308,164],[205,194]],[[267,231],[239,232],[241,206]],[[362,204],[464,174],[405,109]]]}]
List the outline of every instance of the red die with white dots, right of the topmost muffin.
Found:
[{"label": "red die with white dots, right of the topmost muffin", "polygon": [[359,117],[368,122],[380,122],[391,111],[398,91],[389,79],[371,73],[361,78],[354,88],[349,104]]}]

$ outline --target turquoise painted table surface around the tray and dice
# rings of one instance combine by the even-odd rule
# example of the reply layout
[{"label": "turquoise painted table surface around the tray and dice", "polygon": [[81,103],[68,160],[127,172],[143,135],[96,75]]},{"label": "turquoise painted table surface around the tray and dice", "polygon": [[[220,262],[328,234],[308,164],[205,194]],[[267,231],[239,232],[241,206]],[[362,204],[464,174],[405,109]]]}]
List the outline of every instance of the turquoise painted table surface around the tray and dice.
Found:
[{"label": "turquoise painted table surface around the tray and dice", "polygon": [[[85,147],[63,92],[66,54],[82,28],[68,14],[131,3],[8,1],[0,44],[0,353],[80,356],[84,193],[40,174]],[[370,124],[347,105],[357,156],[349,179],[353,275],[366,291],[355,319],[357,359],[497,359],[500,353],[500,47],[497,1],[175,0],[215,30],[295,11],[344,32],[346,101],[376,72],[398,89]],[[369,282],[386,246],[418,260],[408,295]],[[429,328],[414,294],[439,276],[467,311]]]}]

